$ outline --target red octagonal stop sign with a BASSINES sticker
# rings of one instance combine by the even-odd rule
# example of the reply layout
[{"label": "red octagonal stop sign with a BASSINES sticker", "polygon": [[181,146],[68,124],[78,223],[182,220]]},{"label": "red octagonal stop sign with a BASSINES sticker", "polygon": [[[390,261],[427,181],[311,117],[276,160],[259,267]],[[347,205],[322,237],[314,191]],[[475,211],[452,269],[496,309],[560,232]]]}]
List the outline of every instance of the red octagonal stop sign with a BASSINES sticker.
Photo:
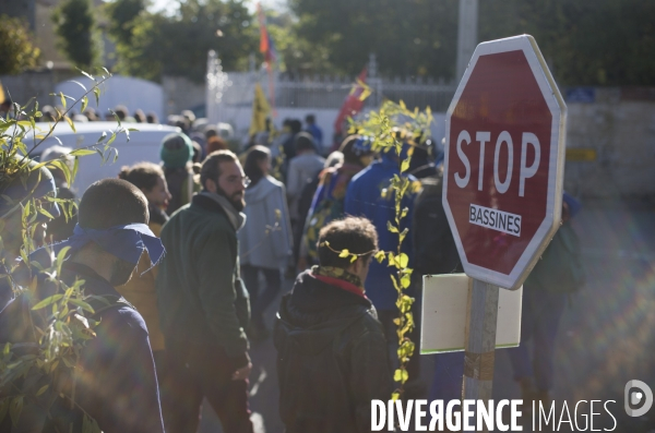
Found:
[{"label": "red octagonal stop sign with a BASSINES sticker", "polygon": [[560,224],[567,107],[532,36],[477,46],[445,118],[443,207],[466,274],[516,289]]}]

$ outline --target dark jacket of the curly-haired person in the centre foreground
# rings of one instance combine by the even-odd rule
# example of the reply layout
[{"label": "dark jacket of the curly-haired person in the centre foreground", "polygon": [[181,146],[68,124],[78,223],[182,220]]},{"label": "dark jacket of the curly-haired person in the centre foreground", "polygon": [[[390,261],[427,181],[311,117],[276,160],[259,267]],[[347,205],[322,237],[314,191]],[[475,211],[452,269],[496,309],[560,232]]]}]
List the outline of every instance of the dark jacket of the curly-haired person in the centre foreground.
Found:
[{"label": "dark jacket of the curly-haired person in the centre foreground", "polygon": [[382,325],[366,297],[300,274],[282,299],[274,344],[288,433],[370,431],[371,399],[388,400],[392,381]]}]

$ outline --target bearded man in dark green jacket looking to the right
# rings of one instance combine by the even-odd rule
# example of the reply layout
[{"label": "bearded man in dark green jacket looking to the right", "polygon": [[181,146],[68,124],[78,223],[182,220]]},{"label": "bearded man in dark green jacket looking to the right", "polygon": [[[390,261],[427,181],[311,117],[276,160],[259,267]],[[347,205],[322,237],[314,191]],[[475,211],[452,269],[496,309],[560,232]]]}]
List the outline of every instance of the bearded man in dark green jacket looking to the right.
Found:
[{"label": "bearded man in dark green jacket looking to the right", "polygon": [[248,178],[229,151],[211,154],[200,177],[202,192],[162,230],[167,255],[157,303],[178,400],[175,413],[164,414],[166,431],[195,432],[205,397],[225,431],[252,432],[245,334],[250,308],[237,240]]}]

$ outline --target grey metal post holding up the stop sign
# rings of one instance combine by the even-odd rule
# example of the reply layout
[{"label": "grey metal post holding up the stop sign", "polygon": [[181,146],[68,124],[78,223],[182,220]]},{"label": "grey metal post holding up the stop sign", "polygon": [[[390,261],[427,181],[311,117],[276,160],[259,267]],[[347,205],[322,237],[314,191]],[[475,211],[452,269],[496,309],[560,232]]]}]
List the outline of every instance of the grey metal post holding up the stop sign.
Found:
[{"label": "grey metal post holding up the stop sign", "polygon": [[499,288],[478,279],[472,281],[466,313],[462,398],[486,404],[491,399],[493,385]]}]

